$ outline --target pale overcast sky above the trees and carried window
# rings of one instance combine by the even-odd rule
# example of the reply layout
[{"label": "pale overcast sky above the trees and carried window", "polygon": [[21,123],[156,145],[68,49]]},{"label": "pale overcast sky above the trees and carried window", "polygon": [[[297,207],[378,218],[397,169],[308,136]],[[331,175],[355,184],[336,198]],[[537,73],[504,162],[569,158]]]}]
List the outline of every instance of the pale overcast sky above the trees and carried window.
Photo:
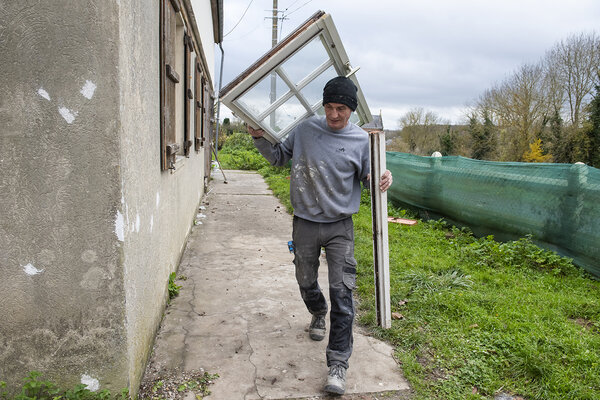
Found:
[{"label": "pale overcast sky above the trees and carried window", "polygon": [[[273,1],[223,3],[225,85],[271,47]],[[279,0],[278,8],[280,38],[318,10],[331,14],[387,129],[416,107],[461,123],[469,104],[520,65],[571,34],[600,33],[599,0]],[[216,64],[218,85],[220,50]],[[221,118],[230,115],[223,107]]]}]

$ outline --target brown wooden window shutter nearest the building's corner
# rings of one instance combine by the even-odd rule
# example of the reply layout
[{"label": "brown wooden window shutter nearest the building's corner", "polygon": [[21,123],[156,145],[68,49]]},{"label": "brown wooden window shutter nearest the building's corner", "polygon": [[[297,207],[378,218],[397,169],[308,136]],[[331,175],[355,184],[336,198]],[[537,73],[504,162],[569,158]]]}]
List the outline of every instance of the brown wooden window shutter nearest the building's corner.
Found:
[{"label": "brown wooden window shutter nearest the building's corner", "polygon": [[[175,5],[175,6],[174,6]],[[179,150],[175,133],[175,85],[179,75],[175,71],[176,14],[179,6],[176,0],[161,1],[161,169],[173,168]]]}]

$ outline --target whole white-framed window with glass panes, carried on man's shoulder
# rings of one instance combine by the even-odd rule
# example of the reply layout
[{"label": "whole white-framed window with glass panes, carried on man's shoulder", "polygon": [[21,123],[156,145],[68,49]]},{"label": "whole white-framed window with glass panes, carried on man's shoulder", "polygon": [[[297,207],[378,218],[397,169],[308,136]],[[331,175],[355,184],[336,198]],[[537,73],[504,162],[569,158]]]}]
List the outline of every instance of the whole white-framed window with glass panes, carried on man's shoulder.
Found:
[{"label": "whole white-framed window with glass panes, carried on man's shoulder", "polygon": [[221,101],[276,143],[306,117],[323,115],[325,83],[345,75],[358,87],[351,121],[362,125],[372,116],[354,72],[331,16],[319,11],[225,86]]}]

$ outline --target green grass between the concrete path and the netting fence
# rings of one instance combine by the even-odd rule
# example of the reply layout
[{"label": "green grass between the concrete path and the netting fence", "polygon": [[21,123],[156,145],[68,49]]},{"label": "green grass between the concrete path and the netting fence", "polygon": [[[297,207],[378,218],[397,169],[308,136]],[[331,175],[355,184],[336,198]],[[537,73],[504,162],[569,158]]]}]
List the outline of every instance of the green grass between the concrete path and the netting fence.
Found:
[{"label": "green grass between the concrete path and the netting fence", "polygon": [[[289,205],[289,171],[260,170]],[[416,399],[600,398],[600,282],[531,238],[389,224],[392,328],[376,326],[368,193],[354,216],[359,322],[395,346]],[[390,215],[406,211],[389,207]]]}]

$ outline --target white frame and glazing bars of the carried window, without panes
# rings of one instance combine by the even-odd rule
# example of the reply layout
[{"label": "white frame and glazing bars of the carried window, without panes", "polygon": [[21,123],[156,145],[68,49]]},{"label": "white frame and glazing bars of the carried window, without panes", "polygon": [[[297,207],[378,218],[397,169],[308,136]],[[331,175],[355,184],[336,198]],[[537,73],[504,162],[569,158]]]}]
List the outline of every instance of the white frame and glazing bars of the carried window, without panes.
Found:
[{"label": "white frame and glazing bars of the carried window, without panes", "polygon": [[[329,56],[329,61],[323,62],[313,71],[307,71],[304,78],[295,84],[286,77],[286,74],[280,67],[285,61],[293,57],[298,51],[317,37],[320,37],[321,43]],[[331,66],[335,68],[337,75],[347,76],[358,88],[358,107],[356,108],[356,114],[359,118],[359,125],[371,122],[373,117],[355,75],[358,68],[352,68],[331,16],[323,11],[315,13],[294,32],[283,39],[277,46],[242,72],[231,83],[226,85],[221,90],[220,101],[237,117],[243,119],[253,128],[263,129],[267,140],[272,143],[277,143],[283,141],[289,132],[303,119],[315,114],[319,110],[320,105],[310,104],[306,101],[304,96],[301,95],[301,90]],[[262,110],[260,114],[254,113],[252,110],[245,107],[244,104],[239,102],[239,99],[245,93],[263,82],[264,79],[268,79],[273,73],[277,73],[281,80],[286,83],[287,89],[289,90],[288,93],[285,93],[276,99],[265,110]],[[305,108],[306,112],[304,114],[299,118],[296,118],[294,122],[287,125],[279,132],[274,131],[267,123],[262,122],[265,120],[266,116],[292,98],[298,99],[300,104]]]}]

